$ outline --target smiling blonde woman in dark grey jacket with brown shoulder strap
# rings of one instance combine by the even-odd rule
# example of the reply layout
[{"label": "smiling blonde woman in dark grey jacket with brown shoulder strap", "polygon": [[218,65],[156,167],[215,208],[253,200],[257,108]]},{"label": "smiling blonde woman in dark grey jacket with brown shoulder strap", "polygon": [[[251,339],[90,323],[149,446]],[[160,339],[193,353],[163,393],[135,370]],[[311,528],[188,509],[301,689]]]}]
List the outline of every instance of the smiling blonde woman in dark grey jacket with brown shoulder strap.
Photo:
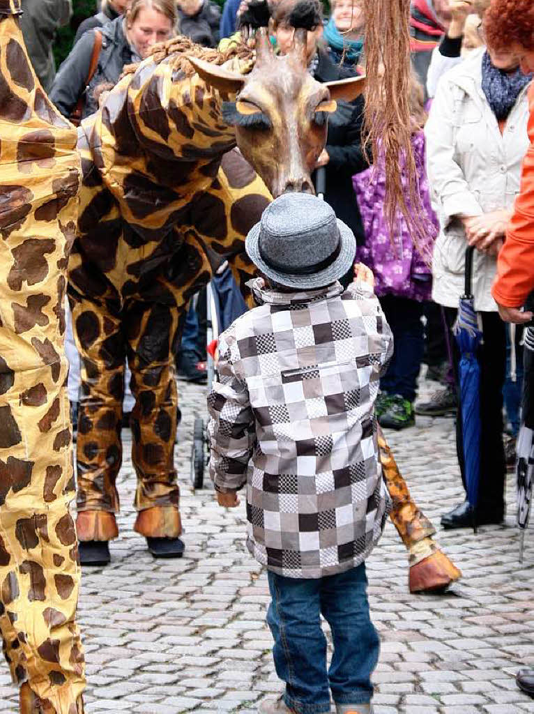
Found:
[{"label": "smiling blonde woman in dark grey jacket with brown shoulder strap", "polygon": [[133,0],[125,16],[86,32],[74,45],[56,76],[51,101],[67,117],[79,104],[82,119],[93,114],[98,109],[95,87],[116,84],[126,65],[145,59],[155,44],[170,39],[176,19],[175,0]]}]

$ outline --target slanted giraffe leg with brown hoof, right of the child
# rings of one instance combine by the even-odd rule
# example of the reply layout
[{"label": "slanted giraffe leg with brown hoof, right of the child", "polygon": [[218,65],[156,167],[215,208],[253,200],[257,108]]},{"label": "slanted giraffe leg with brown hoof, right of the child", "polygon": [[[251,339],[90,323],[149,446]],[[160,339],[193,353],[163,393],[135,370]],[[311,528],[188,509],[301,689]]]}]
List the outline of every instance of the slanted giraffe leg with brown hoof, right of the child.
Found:
[{"label": "slanted giraffe leg with brown hoof, right of the child", "polygon": [[391,521],[408,548],[410,593],[445,590],[462,574],[434,542],[435,528],[410,496],[382,431],[378,433],[378,446],[386,486],[393,500]]}]

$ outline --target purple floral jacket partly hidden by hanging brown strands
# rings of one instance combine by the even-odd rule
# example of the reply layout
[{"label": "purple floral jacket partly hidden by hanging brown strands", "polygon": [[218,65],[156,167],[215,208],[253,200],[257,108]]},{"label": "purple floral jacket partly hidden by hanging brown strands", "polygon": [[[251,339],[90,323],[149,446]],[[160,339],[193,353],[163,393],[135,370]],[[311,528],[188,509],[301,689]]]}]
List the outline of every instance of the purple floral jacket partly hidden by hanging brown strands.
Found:
[{"label": "purple floral jacket partly hidden by hanging brown strands", "polygon": [[376,295],[396,295],[412,300],[428,300],[432,289],[432,251],[438,236],[438,219],[430,204],[430,189],[425,171],[425,136],[418,131],[412,136],[415,165],[423,207],[428,214],[428,224],[433,226],[423,245],[415,247],[408,225],[399,212],[398,230],[391,240],[384,203],[386,176],[383,157],[378,166],[353,176],[353,186],[360,206],[366,243],[358,247],[356,258],[375,274]]}]

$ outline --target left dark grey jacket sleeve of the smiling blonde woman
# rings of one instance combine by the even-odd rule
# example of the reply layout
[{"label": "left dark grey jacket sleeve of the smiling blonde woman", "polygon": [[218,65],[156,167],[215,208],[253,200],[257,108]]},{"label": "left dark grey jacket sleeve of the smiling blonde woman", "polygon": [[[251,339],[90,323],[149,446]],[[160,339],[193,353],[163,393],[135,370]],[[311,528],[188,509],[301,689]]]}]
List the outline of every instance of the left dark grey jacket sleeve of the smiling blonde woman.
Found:
[{"label": "left dark grey jacket sleeve of the smiling blonde woman", "polygon": [[86,32],[81,40],[74,45],[71,54],[56,74],[49,97],[63,116],[71,115],[76,102],[86,88],[94,39],[93,31]]}]

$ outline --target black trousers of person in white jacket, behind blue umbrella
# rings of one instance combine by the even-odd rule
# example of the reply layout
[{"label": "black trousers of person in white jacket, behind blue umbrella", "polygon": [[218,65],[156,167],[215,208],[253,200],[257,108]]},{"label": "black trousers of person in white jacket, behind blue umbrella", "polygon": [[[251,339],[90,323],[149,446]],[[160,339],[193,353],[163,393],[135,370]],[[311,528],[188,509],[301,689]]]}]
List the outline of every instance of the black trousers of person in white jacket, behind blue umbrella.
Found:
[{"label": "black trousers of person in white jacket, behind blue umbrella", "polygon": [[[445,308],[450,328],[458,311]],[[478,349],[480,365],[480,491],[479,514],[498,514],[504,511],[506,464],[503,446],[503,386],[506,375],[506,328],[498,313],[481,312],[483,344]],[[460,351],[453,343],[453,368],[458,385]],[[463,463],[463,430],[461,408],[456,418],[456,451],[465,489]]]}]

